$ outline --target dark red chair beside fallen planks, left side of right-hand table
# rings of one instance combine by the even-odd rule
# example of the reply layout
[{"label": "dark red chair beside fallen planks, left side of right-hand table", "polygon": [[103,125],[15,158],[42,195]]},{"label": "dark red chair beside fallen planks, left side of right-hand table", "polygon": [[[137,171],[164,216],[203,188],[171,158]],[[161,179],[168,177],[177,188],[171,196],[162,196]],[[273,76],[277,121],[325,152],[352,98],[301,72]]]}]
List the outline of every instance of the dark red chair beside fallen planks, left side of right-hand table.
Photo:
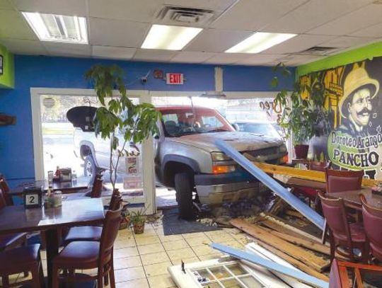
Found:
[{"label": "dark red chair beside fallen planks, left side of right-hand table", "polygon": [[[318,192],[323,207],[323,214],[328,224],[330,236],[330,260],[335,258],[335,253],[350,258],[360,260],[354,255],[354,248],[361,250],[361,260],[367,261],[369,248],[366,243],[364,227],[359,223],[347,221],[344,201],[342,199],[332,199],[325,197],[322,192]],[[345,250],[339,250],[342,248]]]}]

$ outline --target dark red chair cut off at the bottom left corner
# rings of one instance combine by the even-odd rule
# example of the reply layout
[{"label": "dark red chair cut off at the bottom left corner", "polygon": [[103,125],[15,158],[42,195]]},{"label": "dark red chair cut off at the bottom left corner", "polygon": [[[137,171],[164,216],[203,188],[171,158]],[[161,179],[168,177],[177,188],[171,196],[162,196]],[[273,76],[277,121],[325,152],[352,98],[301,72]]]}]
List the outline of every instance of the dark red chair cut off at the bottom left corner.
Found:
[{"label": "dark red chair cut off at the bottom left corner", "polygon": [[[32,279],[9,284],[9,275],[24,271],[32,273]],[[0,252],[0,277],[2,287],[20,287],[32,284],[33,288],[44,287],[44,274],[40,259],[40,244],[23,246]]]}]

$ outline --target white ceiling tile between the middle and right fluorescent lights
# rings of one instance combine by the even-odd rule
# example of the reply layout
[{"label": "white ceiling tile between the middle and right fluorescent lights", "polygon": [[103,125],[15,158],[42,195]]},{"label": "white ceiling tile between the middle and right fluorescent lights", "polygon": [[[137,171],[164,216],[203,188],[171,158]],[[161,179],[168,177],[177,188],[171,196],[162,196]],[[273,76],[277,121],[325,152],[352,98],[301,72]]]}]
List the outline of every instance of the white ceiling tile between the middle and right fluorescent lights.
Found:
[{"label": "white ceiling tile between the middle and right fluorescent lights", "polygon": [[250,31],[207,29],[197,35],[185,50],[224,52],[252,34]]}]

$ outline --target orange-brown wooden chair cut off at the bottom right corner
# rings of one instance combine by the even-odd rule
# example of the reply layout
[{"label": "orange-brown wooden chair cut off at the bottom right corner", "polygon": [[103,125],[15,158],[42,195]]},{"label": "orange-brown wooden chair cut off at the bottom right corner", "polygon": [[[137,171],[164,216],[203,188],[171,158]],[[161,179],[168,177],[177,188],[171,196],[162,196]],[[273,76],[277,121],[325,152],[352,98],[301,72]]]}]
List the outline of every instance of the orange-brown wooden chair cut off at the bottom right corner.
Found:
[{"label": "orange-brown wooden chair cut off at the bottom right corner", "polygon": [[[359,263],[349,263],[345,261],[333,260],[329,275],[329,288],[364,288],[362,275],[365,272],[376,275],[382,274],[382,267],[375,265],[365,265]],[[353,284],[350,283],[349,274],[354,275]],[[373,284],[373,283],[371,283]],[[381,283],[378,283],[381,284]]]}]

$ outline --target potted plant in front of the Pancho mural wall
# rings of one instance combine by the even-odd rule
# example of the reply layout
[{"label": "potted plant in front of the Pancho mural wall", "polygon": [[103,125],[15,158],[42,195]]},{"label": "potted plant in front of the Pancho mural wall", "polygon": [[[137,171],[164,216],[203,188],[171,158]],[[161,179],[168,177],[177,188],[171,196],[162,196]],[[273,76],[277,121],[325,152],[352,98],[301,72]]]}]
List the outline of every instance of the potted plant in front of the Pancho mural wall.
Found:
[{"label": "potted plant in front of the Pancho mural wall", "polygon": [[[274,72],[277,75],[272,79],[272,87],[279,85],[280,72],[284,77],[292,76],[283,63],[277,64]],[[310,80],[310,83],[296,81],[291,91],[282,88],[274,98],[275,105],[284,108],[279,124],[287,130],[287,137],[292,137],[297,159],[307,158],[312,137],[328,134],[330,130],[325,89],[318,81],[318,74],[311,74]]]}]

